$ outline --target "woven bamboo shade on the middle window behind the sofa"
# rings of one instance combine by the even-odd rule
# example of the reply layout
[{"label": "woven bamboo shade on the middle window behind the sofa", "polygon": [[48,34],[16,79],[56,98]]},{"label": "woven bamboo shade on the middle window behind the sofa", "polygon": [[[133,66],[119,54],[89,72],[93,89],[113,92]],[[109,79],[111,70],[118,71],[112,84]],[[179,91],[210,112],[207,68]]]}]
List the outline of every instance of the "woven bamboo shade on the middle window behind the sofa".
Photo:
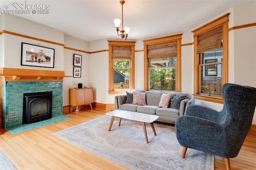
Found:
[{"label": "woven bamboo shade on the middle window behind the sofa", "polygon": [[148,59],[170,58],[177,56],[177,42],[148,45]]}]

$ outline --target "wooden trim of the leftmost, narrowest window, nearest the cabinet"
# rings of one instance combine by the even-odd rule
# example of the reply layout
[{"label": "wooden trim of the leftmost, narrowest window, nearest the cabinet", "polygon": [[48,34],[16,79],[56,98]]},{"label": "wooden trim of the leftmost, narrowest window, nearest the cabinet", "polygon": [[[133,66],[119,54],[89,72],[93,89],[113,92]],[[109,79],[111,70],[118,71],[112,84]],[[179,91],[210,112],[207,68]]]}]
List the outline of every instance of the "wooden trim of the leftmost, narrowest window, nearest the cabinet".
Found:
[{"label": "wooden trim of the leftmost, narrowest window, nearest the cabinet", "polygon": [[113,68],[113,60],[112,60],[112,46],[123,46],[123,47],[131,47],[131,55],[132,58],[130,60],[130,89],[134,89],[134,79],[135,79],[135,43],[131,41],[111,41],[108,40],[108,75],[109,75],[109,85],[108,85],[108,94],[126,94],[127,89],[124,90],[116,90],[114,89],[114,68]]}]

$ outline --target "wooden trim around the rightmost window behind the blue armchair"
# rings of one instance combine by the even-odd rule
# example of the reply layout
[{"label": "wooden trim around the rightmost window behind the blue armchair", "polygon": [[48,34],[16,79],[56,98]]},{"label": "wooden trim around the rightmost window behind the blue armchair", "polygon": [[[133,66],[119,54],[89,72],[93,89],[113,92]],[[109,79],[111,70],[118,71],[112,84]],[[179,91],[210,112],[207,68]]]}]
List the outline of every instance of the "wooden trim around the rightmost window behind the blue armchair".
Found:
[{"label": "wooden trim around the rightmost window behind the blue armchair", "polygon": [[222,26],[223,34],[223,47],[222,47],[222,85],[228,83],[228,14],[197,28],[192,31],[194,33],[194,98],[204,101],[211,101],[215,103],[223,103],[222,97],[214,97],[206,95],[200,95],[200,83],[199,83],[199,56],[197,53],[198,35],[208,32],[214,28]]}]

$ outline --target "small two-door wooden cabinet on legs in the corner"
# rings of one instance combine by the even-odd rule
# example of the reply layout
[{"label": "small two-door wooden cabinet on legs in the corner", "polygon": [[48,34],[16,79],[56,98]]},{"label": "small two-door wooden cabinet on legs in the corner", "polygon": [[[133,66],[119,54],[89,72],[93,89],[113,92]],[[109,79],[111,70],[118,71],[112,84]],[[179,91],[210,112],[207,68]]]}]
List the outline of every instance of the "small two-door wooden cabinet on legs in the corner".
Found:
[{"label": "small two-door wooden cabinet on legs in the corner", "polygon": [[90,105],[92,109],[93,103],[93,88],[81,88],[81,89],[69,89],[69,105],[70,112],[73,110],[73,106],[76,107],[76,113],[78,111],[78,106]]}]

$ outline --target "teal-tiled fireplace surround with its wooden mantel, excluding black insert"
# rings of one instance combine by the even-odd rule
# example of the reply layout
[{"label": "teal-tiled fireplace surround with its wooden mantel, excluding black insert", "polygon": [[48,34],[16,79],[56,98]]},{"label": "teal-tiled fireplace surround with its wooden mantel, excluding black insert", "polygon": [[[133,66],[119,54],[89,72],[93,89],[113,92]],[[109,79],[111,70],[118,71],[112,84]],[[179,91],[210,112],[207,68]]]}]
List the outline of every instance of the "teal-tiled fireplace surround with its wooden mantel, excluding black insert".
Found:
[{"label": "teal-tiled fireplace surround with its wooden mantel, excluding black insert", "polygon": [[11,129],[22,126],[24,93],[52,91],[51,115],[57,117],[63,114],[63,78],[72,76],[66,76],[64,71],[6,67],[0,68],[0,74],[2,83],[0,127],[2,125],[5,129]]}]

